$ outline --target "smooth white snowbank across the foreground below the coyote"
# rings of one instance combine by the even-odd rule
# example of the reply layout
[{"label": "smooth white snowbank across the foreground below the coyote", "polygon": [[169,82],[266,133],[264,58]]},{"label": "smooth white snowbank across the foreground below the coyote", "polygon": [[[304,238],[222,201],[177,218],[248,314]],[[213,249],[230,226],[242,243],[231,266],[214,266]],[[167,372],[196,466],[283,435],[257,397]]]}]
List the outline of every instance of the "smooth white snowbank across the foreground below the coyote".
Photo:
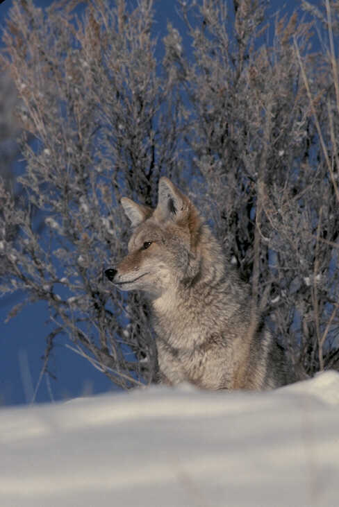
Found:
[{"label": "smooth white snowbank across the foreground below the coyote", "polygon": [[1,507],[339,505],[339,373],[0,411]]}]

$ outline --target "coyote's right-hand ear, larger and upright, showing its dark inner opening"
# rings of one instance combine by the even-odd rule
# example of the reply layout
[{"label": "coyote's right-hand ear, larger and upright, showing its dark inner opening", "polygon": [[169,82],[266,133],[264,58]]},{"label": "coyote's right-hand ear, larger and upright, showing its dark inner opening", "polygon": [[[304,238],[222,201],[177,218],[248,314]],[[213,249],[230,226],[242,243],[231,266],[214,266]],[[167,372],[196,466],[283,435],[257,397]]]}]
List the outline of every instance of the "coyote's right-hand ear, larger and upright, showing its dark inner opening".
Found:
[{"label": "coyote's right-hand ear, larger and upright, showing its dark inner opening", "polygon": [[191,204],[188,197],[181,194],[181,191],[174,186],[172,181],[165,178],[165,176],[160,178],[158,209],[163,218],[171,216],[179,218],[183,214],[187,214]]}]

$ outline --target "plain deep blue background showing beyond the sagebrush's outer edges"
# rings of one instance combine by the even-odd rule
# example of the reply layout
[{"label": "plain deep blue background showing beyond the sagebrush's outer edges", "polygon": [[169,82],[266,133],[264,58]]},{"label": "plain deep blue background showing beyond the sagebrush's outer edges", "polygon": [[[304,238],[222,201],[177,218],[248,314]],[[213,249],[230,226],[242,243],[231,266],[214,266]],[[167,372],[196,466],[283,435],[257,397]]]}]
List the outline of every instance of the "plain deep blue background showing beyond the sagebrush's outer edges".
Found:
[{"label": "plain deep blue background showing beyond the sagebrush's outer edges", "polygon": [[[35,5],[46,7],[51,4],[49,0],[35,0]],[[133,2],[135,3],[135,2]],[[317,3],[313,0],[311,3]],[[295,0],[272,0],[270,12],[273,14],[278,8],[283,12],[291,13],[297,2]],[[4,18],[12,5],[11,0],[5,0],[0,5],[0,35]],[[181,35],[185,33],[185,25],[176,12],[176,2],[172,0],[158,0],[156,8],[156,28],[158,41],[166,33],[167,20],[179,28]],[[184,44],[188,40],[183,39]],[[51,327],[45,325],[48,319],[47,307],[44,303],[28,305],[17,317],[4,323],[8,311],[19,298],[0,299],[0,406],[1,404],[23,404],[31,399],[32,392],[38,385],[40,371],[43,366],[42,354],[45,341]],[[62,343],[59,340],[60,344]],[[65,399],[76,397],[84,393],[101,393],[113,387],[104,374],[72,350],[60,345],[55,352],[53,372],[57,380],[47,382],[46,375],[41,379],[36,402],[47,402],[51,399]]]}]

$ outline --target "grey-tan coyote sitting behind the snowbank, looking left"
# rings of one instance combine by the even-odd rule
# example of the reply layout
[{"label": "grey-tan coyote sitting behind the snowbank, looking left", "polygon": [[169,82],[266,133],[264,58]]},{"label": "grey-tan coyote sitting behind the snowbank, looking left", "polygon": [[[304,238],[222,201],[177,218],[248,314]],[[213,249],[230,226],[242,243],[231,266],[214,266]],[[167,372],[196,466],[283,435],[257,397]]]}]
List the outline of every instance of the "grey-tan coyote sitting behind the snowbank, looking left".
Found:
[{"label": "grey-tan coyote sitting behind the snowbank, looking left", "polygon": [[210,390],[290,384],[283,347],[190,199],[160,178],[156,209],[121,203],[134,232],[128,255],[105,274],[123,291],[146,293],[161,381]]}]

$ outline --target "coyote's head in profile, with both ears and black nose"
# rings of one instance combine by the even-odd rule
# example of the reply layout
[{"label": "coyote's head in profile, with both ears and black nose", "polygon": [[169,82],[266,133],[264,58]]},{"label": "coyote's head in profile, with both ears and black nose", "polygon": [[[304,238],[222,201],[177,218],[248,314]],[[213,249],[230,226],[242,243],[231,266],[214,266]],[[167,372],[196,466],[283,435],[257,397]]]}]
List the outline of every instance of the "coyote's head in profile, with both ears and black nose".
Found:
[{"label": "coyote's head in profile, with both ears and black nose", "polygon": [[105,275],[123,291],[141,289],[158,297],[197,277],[201,232],[205,227],[197,209],[167,178],[160,178],[158,206],[151,209],[121,200],[134,227],[129,253]]}]

